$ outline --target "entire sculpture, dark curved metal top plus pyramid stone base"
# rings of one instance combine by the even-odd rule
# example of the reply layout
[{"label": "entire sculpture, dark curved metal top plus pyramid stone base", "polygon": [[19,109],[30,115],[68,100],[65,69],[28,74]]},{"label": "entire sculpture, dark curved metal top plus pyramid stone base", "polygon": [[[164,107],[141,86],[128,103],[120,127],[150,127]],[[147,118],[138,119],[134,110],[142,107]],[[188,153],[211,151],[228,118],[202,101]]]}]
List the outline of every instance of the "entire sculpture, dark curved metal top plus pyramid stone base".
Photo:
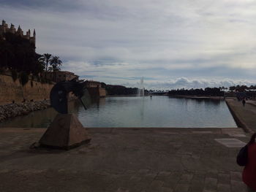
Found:
[{"label": "entire sculpture, dark curved metal top plus pyramid stone base", "polygon": [[[39,146],[69,150],[91,140],[86,128],[74,114],[68,113],[68,96],[74,93],[86,110],[86,101],[90,101],[83,80],[77,78],[56,83],[50,91],[50,104],[60,114],[50,123],[45,134],[39,140]],[[90,103],[90,102],[89,102]]]}]

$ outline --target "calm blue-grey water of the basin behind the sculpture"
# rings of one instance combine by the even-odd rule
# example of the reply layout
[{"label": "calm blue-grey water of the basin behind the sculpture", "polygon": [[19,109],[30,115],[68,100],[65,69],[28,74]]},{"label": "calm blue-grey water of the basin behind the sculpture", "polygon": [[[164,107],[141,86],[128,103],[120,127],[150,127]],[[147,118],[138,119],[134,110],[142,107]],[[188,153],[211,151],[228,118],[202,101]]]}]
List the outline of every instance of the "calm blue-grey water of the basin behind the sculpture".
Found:
[{"label": "calm blue-grey water of the basin behind the sculpture", "polygon": [[[222,100],[126,96],[99,99],[86,111],[72,102],[69,109],[86,127],[237,127]],[[0,127],[47,127],[56,114],[52,108],[31,112]]]}]

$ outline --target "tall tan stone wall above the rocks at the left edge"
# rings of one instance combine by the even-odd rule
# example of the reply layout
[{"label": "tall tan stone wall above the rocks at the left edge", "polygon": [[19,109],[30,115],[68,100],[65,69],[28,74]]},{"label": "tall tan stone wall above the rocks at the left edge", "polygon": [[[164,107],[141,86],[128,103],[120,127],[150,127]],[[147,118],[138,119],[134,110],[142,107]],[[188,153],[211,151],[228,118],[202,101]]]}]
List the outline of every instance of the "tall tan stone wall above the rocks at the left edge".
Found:
[{"label": "tall tan stone wall above the rocks at the left edge", "polygon": [[13,82],[9,74],[0,74],[0,104],[8,104],[12,101],[20,102],[23,99],[34,101],[49,99],[53,85],[31,81],[22,86],[19,80]]}]

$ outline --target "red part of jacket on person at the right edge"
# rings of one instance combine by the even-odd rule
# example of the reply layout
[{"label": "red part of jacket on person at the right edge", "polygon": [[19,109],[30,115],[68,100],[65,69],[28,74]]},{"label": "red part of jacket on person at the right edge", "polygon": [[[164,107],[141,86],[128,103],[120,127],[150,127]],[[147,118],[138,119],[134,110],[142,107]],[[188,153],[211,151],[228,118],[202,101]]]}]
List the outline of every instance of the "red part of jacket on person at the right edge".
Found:
[{"label": "red part of jacket on person at the right edge", "polygon": [[256,190],[256,143],[248,146],[248,163],[244,167],[243,181]]}]

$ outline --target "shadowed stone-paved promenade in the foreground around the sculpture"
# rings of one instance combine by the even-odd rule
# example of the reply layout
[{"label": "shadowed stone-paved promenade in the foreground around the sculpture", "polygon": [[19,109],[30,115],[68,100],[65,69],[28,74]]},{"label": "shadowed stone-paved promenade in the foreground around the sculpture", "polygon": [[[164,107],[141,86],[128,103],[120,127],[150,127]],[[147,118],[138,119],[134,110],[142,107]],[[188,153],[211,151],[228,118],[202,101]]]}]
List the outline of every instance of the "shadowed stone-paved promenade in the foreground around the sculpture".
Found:
[{"label": "shadowed stone-paved promenade in the foreground around the sculpture", "polygon": [[246,191],[241,128],[89,128],[89,145],[29,149],[44,131],[0,128],[0,191]]}]

